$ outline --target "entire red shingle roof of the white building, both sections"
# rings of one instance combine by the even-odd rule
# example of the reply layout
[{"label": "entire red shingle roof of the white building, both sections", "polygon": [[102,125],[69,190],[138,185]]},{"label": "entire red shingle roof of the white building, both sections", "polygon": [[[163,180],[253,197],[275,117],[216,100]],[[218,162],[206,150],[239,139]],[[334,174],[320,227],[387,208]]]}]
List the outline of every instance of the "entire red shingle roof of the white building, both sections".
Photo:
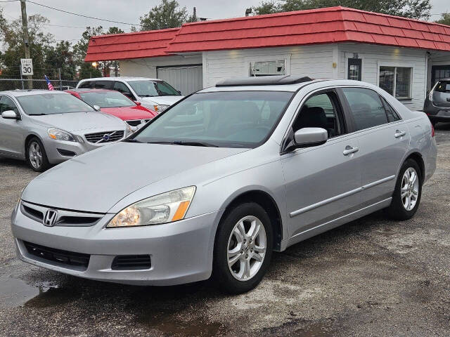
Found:
[{"label": "entire red shingle roof of the white building, both sections", "polygon": [[450,27],[338,6],[93,37],[85,60],[337,42],[450,51]]}]

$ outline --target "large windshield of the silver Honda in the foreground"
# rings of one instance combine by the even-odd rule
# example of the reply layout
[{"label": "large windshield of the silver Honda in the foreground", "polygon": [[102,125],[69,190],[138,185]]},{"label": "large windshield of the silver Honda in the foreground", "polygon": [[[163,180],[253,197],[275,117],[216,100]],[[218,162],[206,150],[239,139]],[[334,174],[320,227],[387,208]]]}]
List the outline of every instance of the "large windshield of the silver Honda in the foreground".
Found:
[{"label": "large windshield of the silver Honda in the foreground", "polygon": [[272,133],[293,93],[195,93],[169,108],[134,142],[214,147],[257,147]]}]

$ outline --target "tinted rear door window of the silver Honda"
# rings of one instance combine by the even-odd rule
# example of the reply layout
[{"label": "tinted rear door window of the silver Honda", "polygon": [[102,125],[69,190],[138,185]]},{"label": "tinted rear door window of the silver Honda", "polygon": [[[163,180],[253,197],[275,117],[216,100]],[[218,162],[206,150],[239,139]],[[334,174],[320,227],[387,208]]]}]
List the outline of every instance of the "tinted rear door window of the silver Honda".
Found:
[{"label": "tinted rear door window of the silver Honda", "polygon": [[378,93],[366,88],[342,88],[350,105],[356,130],[387,124],[385,107]]}]

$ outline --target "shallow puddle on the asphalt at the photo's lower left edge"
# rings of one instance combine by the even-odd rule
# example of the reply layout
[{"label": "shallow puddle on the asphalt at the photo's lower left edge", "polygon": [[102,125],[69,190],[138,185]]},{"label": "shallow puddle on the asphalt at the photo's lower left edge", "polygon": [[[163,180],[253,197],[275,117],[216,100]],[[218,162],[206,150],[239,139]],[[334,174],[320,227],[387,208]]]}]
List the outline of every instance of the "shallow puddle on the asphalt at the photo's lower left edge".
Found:
[{"label": "shallow puddle on the asphalt at the photo's lower left edge", "polygon": [[0,306],[5,308],[21,305],[44,308],[68,303],[79,296],[80,293],[73,289],[60,288],[49,282],[30,285],[10,275],[0,277]]}]

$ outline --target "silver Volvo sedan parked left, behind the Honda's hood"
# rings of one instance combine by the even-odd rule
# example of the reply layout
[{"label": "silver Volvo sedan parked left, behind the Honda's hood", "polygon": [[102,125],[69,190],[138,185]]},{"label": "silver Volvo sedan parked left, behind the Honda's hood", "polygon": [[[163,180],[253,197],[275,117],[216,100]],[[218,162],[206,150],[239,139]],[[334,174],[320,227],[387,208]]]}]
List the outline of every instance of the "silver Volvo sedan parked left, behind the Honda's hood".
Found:
[{"label": "silver Volvo sedan parked left, behind the Honda's hood", "polygon": [[132,132],[121,119],[60,91],[0,92],[0,114],[0,156],[25,159],[34,171]]}]

